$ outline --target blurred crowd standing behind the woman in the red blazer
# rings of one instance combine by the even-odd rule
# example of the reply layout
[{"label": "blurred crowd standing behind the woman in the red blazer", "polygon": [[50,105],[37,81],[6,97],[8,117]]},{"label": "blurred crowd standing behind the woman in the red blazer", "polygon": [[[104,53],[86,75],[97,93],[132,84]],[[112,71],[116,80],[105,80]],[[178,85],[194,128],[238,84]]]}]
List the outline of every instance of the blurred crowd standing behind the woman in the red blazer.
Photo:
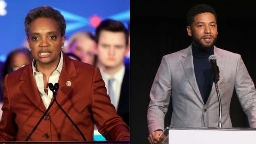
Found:
[{"label": "blurred crowd standing behind the woman in the red blazer", "polygon": [[[89,63],[100,69],[111,103],[129,126],[129,30],[119,22],[106,19],[96,28],[95,35],[77,31],[65,42],[63,52],[69,58]],[[8,73],[32,65],[29,46],[12,50],[4,63],[0,62],[0,108],[4,92],[4,77]],[[32,72],[31,72],[32,73]],[[0,118],[2,110],[0,110]]]}]

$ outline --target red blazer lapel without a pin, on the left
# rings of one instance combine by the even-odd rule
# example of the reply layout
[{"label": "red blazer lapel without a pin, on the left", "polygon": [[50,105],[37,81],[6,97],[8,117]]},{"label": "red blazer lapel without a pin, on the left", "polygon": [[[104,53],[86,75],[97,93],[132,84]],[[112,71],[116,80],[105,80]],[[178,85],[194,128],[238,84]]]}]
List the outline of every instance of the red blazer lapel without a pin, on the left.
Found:
[{"label": "red blazer lapel without a pin, on the left", "polygon": [[25,67],[20,77],[21,81],[21,93],[23,93],[29,100],[41,111],[46,111],[46,108],[42,102],[42,98],[38,92],[37,84],[32,74],[32,63]]}]

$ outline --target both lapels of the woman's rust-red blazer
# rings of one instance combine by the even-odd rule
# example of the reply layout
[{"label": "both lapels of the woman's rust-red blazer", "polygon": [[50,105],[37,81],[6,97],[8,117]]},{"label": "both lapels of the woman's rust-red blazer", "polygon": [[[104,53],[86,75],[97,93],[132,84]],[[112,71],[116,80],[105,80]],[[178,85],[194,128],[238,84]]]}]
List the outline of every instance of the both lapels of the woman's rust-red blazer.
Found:
[{"label": "both lapels of the woman's rust-red blazer", "polygon": [[[62,54],[63,54],[63,66],[62,66],[62,71],[60,73],[60,78],[58,81],[58,83],[60,84],[60,88],[56,96],[56,99],[60,105],[62,104],[64,99],[69,96],[69,93],[74,88],[75,82],[73,81],[72,78],[77,76],[77,72],[76,72],[73,61],[64,52],[62,52]],[[40,97],[37,85],[35,83],[35,80],[32,74],[32,61],[30,65],[24,69],[23,73],[21,74],[20,80],[24,81],[24,83],[21,84],[21,88],[20,88],[21,92],[25,96],[27,96],[29,100],[37,108],[39,108],[43,112],[46,111],[46,108],[42,102],[42,98]],[[70,81],[72,83],[71,86],[67,86],[66,84],[67,81]],[[57,105],[54,104],[48,113],[50,113],[56,107]]]}]

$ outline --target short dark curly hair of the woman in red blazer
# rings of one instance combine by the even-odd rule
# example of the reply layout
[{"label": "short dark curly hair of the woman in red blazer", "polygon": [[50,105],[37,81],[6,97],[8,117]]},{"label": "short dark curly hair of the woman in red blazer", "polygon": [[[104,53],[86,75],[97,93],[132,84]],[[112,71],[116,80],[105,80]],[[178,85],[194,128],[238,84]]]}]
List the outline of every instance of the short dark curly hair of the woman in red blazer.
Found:
[{"label": "short dark curly hair of the woman in red blazer", "polygon": [[25,32],[27,37],[29,37],[30,23],[40,17],[51,18],[56,20],[56,22],[58,23],[58,27],[60,29],[61,36],[65,35],[66,22],[63,15],[58,10],[54,10],[50,6],[40,6],[33,10],[30,10],[25,18],[24,24],[25,24]]}]

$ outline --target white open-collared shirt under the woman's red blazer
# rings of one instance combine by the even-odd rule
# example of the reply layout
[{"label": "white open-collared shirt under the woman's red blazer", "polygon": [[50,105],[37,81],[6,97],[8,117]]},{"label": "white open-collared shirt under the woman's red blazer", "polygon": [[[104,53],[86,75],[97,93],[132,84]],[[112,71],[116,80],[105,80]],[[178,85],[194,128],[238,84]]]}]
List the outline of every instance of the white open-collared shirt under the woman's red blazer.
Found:
[{"label": "white open-collared shirt under the woman's red blazer", "polygon": [[[42,75],[42,73],[40,73],[39,71],[36,70],[36,68],[34,66],[34,61],[35,61],[35,59],[32,62],[33,77],[34,77],[34,79],[36,81],[37,88],[38,88],[39,94],[40,94],[40,96],[42,98],[42,101],[44,103],[44,106],[47,109],[49,107],[49,105],[50,105],[53,93],[50,90],[50,88],[48,88],[48,95],[44,92],[43,75]],[[60,54],[60,62],[58,64],[58,67],[52,73],[52,75],[49,77],[48,83],[52,83],[53,85],[55,83],[58,83],[59,77],[60,77],[60,72],[62,71],[62,65],[63,65],[63,54],[61,52],[61,54]]]}]

